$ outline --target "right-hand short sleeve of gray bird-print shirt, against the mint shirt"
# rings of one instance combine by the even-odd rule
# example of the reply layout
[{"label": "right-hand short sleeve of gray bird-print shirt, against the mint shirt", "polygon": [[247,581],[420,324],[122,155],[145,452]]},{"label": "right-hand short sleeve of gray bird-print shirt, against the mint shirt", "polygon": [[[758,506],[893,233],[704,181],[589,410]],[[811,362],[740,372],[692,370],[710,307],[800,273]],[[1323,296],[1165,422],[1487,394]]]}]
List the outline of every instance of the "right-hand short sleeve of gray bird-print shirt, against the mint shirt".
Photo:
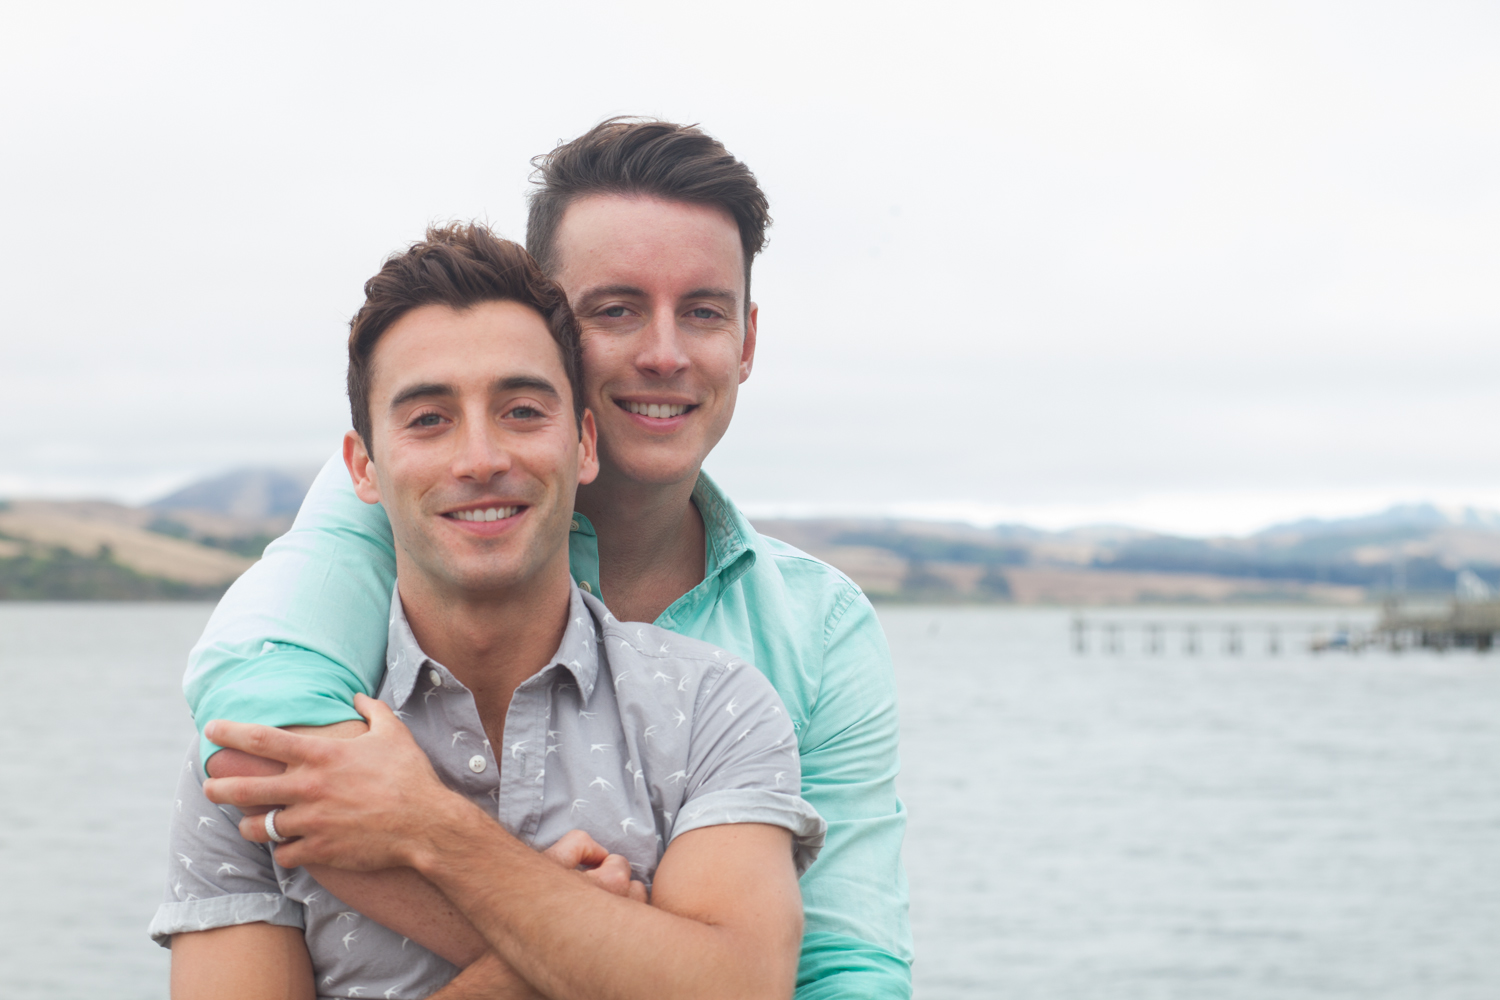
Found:
[{"label": "right-hand short sleeve of gray bird-print shirt, against the mint shirt", "polygon": [[730,658],[699,688],[687,795],[672,838],[724,823],[766,823],[792,834],[796,874],[822,850],[826,823],[801,796],[796,735],[765,676]]}]

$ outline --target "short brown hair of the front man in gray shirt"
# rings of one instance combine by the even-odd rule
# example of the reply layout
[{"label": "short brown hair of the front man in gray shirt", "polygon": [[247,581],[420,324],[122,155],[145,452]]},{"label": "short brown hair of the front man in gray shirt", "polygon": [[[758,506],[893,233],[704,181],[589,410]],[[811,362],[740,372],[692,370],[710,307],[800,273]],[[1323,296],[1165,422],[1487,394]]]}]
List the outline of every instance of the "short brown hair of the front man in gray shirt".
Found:
[{"label": "short brown hair of the front man in gray shirt", "polygon": [[573,391],[573,418],[579,435],[584,433],[582,357],[567,295],[519,243],[501,240],[477,222],[454,222],[429,226],[424,240],[387,258],[375,277],[364,282],[364,304],[350,319],[350,415],[368,450],[374,450],[372,358],[381,336],[422,306],[462,312],[486,301],[520,303],[546,321]]}]

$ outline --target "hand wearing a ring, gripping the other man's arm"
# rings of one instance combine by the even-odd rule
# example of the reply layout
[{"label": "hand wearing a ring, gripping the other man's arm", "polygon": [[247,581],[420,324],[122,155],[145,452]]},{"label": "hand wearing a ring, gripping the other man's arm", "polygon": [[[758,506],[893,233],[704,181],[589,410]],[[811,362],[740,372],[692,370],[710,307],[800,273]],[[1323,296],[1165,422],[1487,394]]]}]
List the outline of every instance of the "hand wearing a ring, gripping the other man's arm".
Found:
[{"label": "hand wearing a ring, gripping the other man's arm", "polygon": [[[220,747],[286,765],[262,778],[212,778],[204,795],[242,810],[280,805],[276,829],[292,843],[276,847],[276,862],[309,862],[351,871],[412,867],[428,838],[462,810],[478,813],[448,790],[411,732],[384,703],[357,694],[354,708],[370,729],[354,739],[298,736],[268,726],[213,721],[206,735]],[[266,843],[266,823],[240,822],[246,840]]]}]

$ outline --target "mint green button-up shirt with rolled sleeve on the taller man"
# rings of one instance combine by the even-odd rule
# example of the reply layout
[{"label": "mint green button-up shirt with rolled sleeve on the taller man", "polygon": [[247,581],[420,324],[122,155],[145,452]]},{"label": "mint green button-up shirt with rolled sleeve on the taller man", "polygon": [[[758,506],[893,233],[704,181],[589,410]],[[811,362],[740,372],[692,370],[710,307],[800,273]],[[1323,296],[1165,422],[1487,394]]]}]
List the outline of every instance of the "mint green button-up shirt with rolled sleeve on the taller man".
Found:
[{"label": "mint green button-up shirt with rolled sleeve on the taller man", "polygon": [[[874,609],[846,576],[754,531],[708,475],[693,501],[706,529],[704,582],[656,624],[752,663],[798,736],[802,798],[828,822],[802,876],[798,1000],[909,997],[910,930],[896,798],[891,654]],[[579,586],[598,586],[598,543],[574,514]],[[354,495],[344,462],[318,475],[291,531],[214,609],[183,690],[200,732],[214,718],[327,726],[358,718],[380,688],[396,579],[390,522]],[[608,603],[608,595],[604,597]],[[204,741],[202,759],[218,750]]]}]

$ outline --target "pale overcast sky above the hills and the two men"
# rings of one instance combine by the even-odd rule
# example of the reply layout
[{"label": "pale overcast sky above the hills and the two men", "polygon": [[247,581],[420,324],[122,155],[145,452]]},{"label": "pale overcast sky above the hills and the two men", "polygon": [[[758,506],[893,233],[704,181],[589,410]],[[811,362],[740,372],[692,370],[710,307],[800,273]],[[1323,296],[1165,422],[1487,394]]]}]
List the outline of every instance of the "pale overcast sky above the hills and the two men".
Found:
[{"label": "pale overcast sky above the hills and the two men", "polygon": [[8,4],[0,495],[321,460],[380,261],[622,112],[771,198],[753,511],[1500,505],[1500,6],[1437,0]]}]

